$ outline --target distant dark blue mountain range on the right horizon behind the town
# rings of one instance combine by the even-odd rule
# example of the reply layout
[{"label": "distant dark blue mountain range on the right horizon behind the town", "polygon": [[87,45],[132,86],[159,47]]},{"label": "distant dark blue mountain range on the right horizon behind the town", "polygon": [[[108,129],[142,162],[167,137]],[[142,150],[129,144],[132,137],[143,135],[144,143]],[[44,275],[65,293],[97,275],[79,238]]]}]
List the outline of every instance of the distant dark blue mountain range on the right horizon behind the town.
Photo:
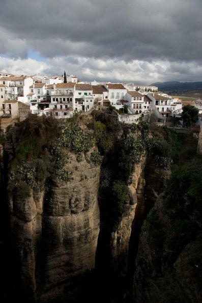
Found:
[{"label": "distant dark blue mountain range on the right horizon behind the town", "polygon": [[200,82],[179,82],[179,81],[167,81],[167,82],[155,82],[151,85],[158,87],[159,91],[164,91],[176,95],[195,95],[202,93],[202,81]]}]

